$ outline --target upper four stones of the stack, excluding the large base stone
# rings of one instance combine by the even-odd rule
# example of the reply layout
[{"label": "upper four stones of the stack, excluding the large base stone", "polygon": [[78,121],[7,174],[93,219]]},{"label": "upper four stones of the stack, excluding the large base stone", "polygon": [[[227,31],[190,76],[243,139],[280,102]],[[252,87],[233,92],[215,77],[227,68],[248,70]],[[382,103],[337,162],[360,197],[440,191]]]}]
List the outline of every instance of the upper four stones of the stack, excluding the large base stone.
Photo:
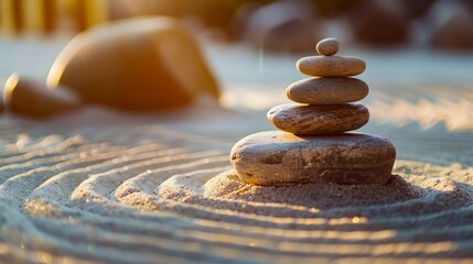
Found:
[{"label": "upper four stones of the stack, excluding the large base stone", "polygon": [[288,103],[269,110],[268,119],[278,129],[299,135],[334,134],[356,130],[368,122],[362,105],[350,103],[368,95],[368,86],[347,76],[362,74],[366,64],[356,57],[332,56],[338,51],[335,38],[316,45],[321,56],[299,59],[302,74],[320,78],[295,81],[286,89]]}]

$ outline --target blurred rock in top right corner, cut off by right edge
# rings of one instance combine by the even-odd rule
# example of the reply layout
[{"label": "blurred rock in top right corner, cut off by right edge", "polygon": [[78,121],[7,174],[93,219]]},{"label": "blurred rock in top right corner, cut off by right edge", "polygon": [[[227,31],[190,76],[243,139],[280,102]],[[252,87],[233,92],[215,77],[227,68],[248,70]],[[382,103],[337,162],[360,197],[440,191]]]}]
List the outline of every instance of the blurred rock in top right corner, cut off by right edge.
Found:
[{"label": "blurred rock in top right corner, cut off by right edge", "polygon": [[473,12],[461,1],[439,1],[428,13],[429,44],[434,50],[473,51]]}]

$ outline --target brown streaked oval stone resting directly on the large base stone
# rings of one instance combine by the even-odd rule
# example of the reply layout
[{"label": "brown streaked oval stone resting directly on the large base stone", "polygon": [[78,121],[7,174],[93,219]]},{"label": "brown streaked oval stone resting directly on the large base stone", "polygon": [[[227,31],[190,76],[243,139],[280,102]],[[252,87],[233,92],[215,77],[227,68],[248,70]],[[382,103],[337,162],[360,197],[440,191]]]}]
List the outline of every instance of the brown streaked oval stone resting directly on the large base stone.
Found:
[{"label": "brown streaked oval stone resting directly on the large base stone", "polygon": [[369,120],[362,105],[305,106],[287,103],[271,108],[268,120],[276,128],[299,135],[333,134],[356,130]]}]

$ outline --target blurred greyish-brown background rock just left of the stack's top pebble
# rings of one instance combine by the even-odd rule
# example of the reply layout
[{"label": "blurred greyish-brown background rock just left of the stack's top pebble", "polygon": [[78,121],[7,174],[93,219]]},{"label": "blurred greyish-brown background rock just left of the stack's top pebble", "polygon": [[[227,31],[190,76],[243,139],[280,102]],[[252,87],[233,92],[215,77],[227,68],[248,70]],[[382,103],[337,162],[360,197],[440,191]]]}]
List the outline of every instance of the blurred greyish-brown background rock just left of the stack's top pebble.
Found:
[{"label": "blurred greyish-brown background rock just left of the stack's top pebble", "polygon": [[243,38],[257,48],[273,52],[311,51],[320,32],[315,10],[309,1],[276,1],[254,11]]}]

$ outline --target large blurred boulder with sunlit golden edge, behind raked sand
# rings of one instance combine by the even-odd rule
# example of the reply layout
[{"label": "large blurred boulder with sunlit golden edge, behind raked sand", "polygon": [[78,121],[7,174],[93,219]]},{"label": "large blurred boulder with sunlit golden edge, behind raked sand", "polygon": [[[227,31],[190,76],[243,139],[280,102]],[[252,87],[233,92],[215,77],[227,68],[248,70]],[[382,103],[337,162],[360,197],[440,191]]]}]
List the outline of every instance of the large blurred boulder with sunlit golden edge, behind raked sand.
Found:
[{"label": "large blurred boulder with sunlit golden edge, behind raked sand", "polygon": [[165,110],[201,92],[219,96],[197,43],[171,18],[129,19],[77,35],[47,77],[50,87],[60,84],[85,102],[125,110]]}]

